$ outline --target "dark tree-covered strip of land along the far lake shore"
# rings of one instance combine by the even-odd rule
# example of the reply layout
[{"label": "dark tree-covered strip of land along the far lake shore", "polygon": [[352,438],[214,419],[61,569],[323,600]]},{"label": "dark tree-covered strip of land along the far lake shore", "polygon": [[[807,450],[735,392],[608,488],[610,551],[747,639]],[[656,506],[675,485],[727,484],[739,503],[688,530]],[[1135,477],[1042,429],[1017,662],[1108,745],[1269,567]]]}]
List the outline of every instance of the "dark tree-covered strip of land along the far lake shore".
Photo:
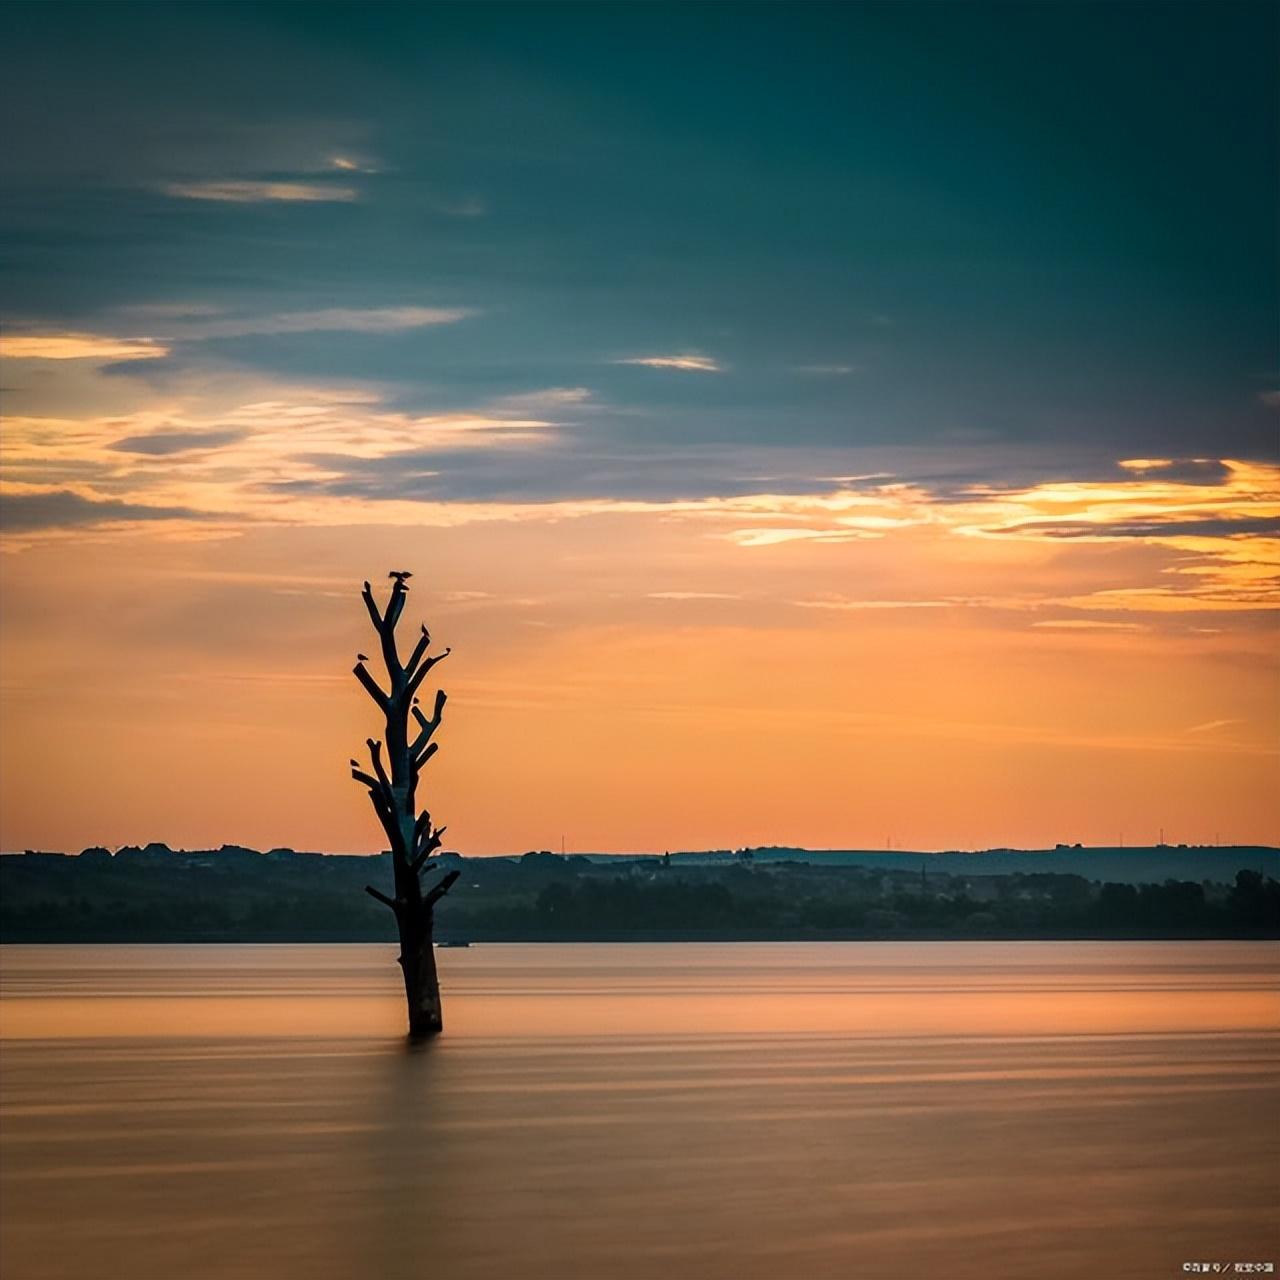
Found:
[{"label": "dark tree-covered strip of land along the far lake shore", "polygon": [[[474,941],[1280,936],[1280,850],[442,854]],[[4,942],[389,941],[390,855],[161,844],[0,858]]]}]

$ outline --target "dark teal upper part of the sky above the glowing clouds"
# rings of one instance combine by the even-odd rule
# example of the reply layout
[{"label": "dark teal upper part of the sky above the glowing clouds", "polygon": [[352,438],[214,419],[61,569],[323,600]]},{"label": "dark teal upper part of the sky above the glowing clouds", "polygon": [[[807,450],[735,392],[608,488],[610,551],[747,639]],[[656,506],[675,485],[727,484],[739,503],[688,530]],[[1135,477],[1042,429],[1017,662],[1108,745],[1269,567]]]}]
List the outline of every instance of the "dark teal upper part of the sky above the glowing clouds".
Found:
[{"label": "dark teal upper part of the sky above the glowing clouds", "polygon": [[[234,369],[411,413],[590,394],[536,457],[352,458],[302,488],[664,498],[822,486],[865,448],[925,451],[931,483],[1274,451],[1271,5],[4,26],[10,328],[159,334],[119,372],[161,390]],[[259,332],[407,307],[461,315]]]}]

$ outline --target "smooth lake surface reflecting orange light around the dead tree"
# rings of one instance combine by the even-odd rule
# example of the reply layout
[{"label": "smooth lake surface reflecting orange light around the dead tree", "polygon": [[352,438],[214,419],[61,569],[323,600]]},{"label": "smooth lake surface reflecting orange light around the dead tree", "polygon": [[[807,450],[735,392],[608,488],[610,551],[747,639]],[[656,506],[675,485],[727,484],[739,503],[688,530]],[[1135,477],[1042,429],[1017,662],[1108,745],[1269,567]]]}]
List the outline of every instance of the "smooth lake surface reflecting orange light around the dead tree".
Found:
[{"label": "smooth lake surface reflecting orange light around the dead tree", "polygon": [[393,957],[0,948],[0,1274],[1280,1268],[1272,945],[476,946],[416,1051]]}]

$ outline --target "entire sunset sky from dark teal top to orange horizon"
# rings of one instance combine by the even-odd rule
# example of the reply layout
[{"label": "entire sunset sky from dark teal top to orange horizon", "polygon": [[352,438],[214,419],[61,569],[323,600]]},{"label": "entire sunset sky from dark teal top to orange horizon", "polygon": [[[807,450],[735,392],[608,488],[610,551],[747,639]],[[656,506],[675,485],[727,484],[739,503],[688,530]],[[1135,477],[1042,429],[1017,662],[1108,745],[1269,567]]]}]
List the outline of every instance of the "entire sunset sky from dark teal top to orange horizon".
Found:
[{"label": "entire sunset sky from dark teal top to orange horizon", "polygon": [[1276,13],[6,5],[0,847],[1280,842]]}]

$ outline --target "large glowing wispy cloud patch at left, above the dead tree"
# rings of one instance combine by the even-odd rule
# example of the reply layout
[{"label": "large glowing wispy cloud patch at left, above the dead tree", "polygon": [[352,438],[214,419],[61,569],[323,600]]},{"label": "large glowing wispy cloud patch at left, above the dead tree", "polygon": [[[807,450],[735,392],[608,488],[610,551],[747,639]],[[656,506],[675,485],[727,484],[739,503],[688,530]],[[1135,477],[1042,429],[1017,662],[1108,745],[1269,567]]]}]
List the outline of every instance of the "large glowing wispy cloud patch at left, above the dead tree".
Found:
[{"label": "large glowing wispy cloud patch at left, above the dead tree", "polygon": [[[283,515],[315,524],[329,511],[339,524],[348,517],[420,524],[433,518],[425,502],[361,495],[366,472],[374,499],[381,497],[383,474],[407,492],[442,465],[461,467],[467,456],[489,451],[521,454],[507,465],[518,472],[526,465],[522,458],[558,430],[547,417],[513,412],[512,404],[489,412],[408,415],[365,389],[255,389],[274,396],[237,402],[201,380],[189,399],[168,398],[132,415],[10,416],[4,481],[9,493],[74,486],[74,500],[51,499],[29,529],[55,527],[63,515],[68,525],[84,524],[90,515],[95,522],[127,521],[134,507],[138,520],[155,518],[148,511],[165,507],[248,521]],[[447,480],[440,489],[453,492]],[[125,506],[84,506],[106,500]]]}]

